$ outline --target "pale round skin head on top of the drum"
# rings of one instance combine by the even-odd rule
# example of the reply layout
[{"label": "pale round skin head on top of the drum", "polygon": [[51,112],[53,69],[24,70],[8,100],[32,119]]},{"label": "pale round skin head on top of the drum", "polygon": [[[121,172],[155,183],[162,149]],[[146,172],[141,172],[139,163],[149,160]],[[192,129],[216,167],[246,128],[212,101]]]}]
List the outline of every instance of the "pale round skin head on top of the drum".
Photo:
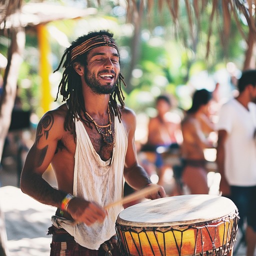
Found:
[{"label": "pale round skin head on top of the drum", "polygon": [[237,210],[224,196],[189,194],[144,201],[122,210],[117,222],[136,226],[189,225],[219,219]]}]

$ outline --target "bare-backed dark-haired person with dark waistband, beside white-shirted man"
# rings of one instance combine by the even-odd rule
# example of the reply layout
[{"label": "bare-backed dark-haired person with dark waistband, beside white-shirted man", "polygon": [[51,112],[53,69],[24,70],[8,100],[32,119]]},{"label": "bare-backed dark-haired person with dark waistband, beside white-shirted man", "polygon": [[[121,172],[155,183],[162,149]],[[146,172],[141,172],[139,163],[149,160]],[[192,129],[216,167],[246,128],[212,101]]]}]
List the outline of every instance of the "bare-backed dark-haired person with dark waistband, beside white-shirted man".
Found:
[{"label": "bare-backed dark-haired person with dark waistband, beside white-shirted man", "polygon": [[211,99],[211,92],[206,89],[196,90],[192,97],[192,106],[181,122],[182,181],[191,194],[207,194],[209,190],[203,149],[213,147],[207,137],[214,131],[214,125],[208,117]]}]

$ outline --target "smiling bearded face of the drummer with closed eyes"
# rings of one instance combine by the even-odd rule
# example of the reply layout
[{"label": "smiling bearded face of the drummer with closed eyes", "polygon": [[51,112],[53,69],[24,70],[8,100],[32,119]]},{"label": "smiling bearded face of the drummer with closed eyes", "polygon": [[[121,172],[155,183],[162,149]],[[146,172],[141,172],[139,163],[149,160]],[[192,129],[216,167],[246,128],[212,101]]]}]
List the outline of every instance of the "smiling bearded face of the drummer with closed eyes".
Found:
[{"label": "smiling bearded face of the drummer with closed eyes", "polygon": [[119,72],[119,56],[114,47],[100,46],[89,51],[84,79],[94,93],[112,93]]}]

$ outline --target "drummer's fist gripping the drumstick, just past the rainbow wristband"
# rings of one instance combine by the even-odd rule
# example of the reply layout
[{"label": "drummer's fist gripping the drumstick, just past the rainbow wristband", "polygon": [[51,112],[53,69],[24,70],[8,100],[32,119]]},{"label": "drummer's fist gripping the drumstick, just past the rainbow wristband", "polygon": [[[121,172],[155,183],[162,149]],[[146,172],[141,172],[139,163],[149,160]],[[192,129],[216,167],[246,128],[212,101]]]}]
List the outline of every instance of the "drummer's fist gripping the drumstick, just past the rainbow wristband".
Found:
[{"label": "drummer's fist gripping the drumstick, just past the rainbow wristband", "polygon": [[106,216],[106,211],[101,206],[79,197],[70,200],[67,212],[75,221],[84,222],[88,226],[96,221],[102,223]]}]

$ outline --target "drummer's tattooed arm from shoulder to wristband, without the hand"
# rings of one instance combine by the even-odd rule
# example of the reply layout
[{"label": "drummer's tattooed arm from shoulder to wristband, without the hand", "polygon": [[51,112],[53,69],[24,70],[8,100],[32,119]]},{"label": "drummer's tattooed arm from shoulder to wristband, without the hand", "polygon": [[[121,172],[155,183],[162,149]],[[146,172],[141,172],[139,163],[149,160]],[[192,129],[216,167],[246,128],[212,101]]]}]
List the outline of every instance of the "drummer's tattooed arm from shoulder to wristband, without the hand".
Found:
[{"label": "drummer's tattooed arm from shoulder to wristband, without the hand", "polygon": [[53,117],[51,111],[45,113],[40,119],[35,141],[28,151],[20,178],[20,188],[24,193],[39,202],[56,207],[60,207],[66,192],[53,188],[42,178],[42,174],[50,164],[57,141],[62,134],[61,124],[57,123],[59,119],[60,117]]}]

